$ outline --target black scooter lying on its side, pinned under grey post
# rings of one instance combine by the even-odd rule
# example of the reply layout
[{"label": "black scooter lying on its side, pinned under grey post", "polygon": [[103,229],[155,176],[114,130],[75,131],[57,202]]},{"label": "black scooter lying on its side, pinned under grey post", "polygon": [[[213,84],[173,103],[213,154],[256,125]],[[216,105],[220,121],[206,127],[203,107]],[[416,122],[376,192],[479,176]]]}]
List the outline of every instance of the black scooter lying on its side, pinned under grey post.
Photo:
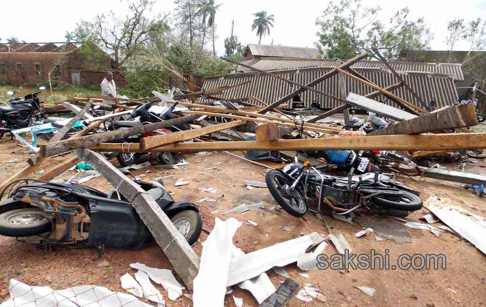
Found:
[{"label": "black scooter lying on its side, pinned under grey post", "polygon": [[[167,214],[190,245],[199,238],[201,217],[192,203],[174,202],[163,185],[136,180]],[[19,184],[17,186],[17,184]],[[0,203],[0,235],[30,244],[138,248],[150,238],[135,208],[116,190],[21,179]]]}]

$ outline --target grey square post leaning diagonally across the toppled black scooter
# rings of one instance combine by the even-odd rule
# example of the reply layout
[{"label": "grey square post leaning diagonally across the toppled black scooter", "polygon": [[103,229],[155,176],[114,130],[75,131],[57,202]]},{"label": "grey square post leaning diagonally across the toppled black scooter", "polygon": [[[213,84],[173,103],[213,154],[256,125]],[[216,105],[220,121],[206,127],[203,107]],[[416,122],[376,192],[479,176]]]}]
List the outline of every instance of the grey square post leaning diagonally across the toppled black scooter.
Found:
[{"label": "grey square post leaning diagonally across the toppled black scooter", "polygon": [[122,174],[99,153],[87,148],[78,148],[74,153],[79,159],[89,163],[102,174],[135,208],[157,244],[170,260],[175,272],[181,277],[187,288],[192,290],[192,281],[199,271],[200,259],[160,206],[145,190]]}]

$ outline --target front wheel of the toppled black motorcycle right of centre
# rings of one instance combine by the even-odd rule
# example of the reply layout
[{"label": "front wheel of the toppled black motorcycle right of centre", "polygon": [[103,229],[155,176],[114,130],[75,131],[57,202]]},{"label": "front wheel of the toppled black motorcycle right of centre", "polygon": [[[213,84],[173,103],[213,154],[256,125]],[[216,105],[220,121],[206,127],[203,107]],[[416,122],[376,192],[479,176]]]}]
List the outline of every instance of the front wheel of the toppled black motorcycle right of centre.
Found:
[{"label": "front wheel of the toppled black motorcycle right of centre", "polygon": [[293,182],[275,169],[267,173],[265,181],[273,198],[283,210],[293,216],[304,216],[307,212],[307,202],[302,185],[298,185],[293,191],[290,191],[289,188]]}]

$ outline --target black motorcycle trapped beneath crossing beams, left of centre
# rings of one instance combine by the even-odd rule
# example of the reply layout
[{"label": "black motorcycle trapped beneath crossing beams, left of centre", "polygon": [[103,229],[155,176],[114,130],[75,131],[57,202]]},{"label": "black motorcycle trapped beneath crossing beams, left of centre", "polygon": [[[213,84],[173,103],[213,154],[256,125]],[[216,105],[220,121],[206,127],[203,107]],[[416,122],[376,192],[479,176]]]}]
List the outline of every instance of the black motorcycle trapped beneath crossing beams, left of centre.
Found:
[{"label": "black motorcycle trapped beneath crossing beams, left of centre", "polygon": [[[172,104],[171,106],[168,106],[160,115],[148,111],[148,109],[152,106],[152,104],[153,101],[149,101],[147,103],[137,106],[134,109],[134,111],[131,112],[128,120],[114,121],[108,125],[108,130],[136,127],[141,124],[143,125],[147,123],[160,122],[160,121],[175,118],[174,115],[172,114],[172,111],[174,110],[178,102]],[[131,120],[136,118],[139,119]],[[190,128],[191,126],[187,123],[182,123],[180,125],[172,127],[172,129],[176,131],[189,130]],[[140,139],[142,138],[156,136],[160,134],[167,134],[171,132],[172,130],[169,129],[158,129],[155,131],[149,131],[148,133],[145,133],[143,135],[130,136],[126,139],[117,140],[115,142],[140,143]],[[154,158],[157,158],[163,164],[168,164],[168,165],[175,164],[175,156],[172,152],[149,152],[149,153],[120,152],[117,155],[117,160],[122,166],[137,164],[140,163],[143,159],[154,159]]]}]

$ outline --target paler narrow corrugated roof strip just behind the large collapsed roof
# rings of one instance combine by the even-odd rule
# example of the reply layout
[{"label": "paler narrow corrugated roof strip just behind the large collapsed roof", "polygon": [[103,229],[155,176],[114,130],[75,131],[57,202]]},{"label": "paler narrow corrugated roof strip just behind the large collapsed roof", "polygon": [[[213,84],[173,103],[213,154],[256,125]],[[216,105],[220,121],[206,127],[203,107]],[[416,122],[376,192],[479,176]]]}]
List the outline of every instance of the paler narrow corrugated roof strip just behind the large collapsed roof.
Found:
[{"label": "paler narrow corrugated roof strip just behind the large collapsed roof", "polygon": [[[260,58],[244,60],[241,63],[264,71],[278,71],[309,67],[336,67],[336,60],[334,59],[291,59],[291,58]],[[433,74],[451,75],[456,81],[463,81],[461,64],[452,63],[421,63],[421,62],[401,62],[388,61],[395,71],[400,72],[427,72]],[[379,68],[387,70],[385,64],[381,61],[366,61],[361,60],[351,66],[352,68]],[[242,72],[251,72],[250,69],[239,67]]]}]

